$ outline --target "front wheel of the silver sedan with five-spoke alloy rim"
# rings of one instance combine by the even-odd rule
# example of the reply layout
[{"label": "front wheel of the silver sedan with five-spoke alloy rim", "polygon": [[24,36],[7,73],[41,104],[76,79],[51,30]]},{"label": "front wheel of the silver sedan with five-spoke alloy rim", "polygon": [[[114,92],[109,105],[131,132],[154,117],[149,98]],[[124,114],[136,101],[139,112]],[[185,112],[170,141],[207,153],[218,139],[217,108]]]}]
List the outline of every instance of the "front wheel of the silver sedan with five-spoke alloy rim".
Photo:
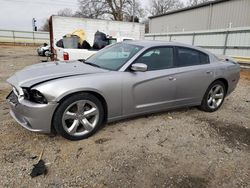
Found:
[{"label": "front wheel of the silver sedan with five-spoke alloy rim", "polygon": [[104,110],[100,100],[88,93],[78,93],[60,103],[52,125],[64,138],[81,140],[93,135],[103,122]]}]

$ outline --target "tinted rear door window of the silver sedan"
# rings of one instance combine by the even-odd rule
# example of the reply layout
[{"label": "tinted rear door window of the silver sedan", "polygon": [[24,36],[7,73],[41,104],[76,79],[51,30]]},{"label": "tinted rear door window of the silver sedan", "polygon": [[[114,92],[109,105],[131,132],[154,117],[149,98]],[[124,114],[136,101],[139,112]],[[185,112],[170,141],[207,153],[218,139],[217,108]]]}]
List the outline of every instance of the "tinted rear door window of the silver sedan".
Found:
[{"label": "tinted rear door window of the silver sedan", "polygon": [[192,66],[209,63],[209,57],[205,53],[190,48],[180,48],[177,50],[178,61],[177,66]]}]

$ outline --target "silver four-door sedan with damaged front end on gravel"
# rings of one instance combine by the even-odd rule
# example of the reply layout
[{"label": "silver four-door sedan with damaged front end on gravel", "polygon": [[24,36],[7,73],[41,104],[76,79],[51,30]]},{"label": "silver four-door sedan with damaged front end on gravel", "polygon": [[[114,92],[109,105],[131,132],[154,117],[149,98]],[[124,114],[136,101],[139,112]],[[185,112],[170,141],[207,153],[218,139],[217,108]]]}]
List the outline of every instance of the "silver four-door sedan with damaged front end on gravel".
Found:
[{"label": "silver four-door sedan with damaged front end on gravel", "polygon": [[30,131],[56,130],[70,140],[105,122],[199,106],[220,108],[236,87],[240,66],[179,43],[126,41],[84,62],[36,64],[7,81],[12,117]]}]

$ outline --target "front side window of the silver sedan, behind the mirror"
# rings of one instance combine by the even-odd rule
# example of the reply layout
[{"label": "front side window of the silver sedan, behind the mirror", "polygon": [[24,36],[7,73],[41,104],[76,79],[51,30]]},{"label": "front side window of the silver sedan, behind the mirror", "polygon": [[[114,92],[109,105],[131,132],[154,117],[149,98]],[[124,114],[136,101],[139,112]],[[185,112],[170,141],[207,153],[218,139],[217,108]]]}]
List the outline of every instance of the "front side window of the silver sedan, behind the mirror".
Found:
[{"label": "front side window of the silver sedan, behind the mirror", "polygon": [[171,68],[174,64],[173,47],[152,48],[140,56],[135,63],[146,64],[148,71]]}]

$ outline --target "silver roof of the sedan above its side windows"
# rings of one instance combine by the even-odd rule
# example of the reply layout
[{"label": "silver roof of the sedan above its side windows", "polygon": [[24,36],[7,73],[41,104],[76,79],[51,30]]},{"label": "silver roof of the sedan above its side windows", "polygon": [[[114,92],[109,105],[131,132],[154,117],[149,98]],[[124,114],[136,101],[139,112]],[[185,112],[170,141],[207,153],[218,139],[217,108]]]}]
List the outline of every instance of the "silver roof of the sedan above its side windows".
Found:
[{"label": "silver roof of the sedan above its side windows", "polygon": [[188,44],[183,44],[183,43],[179,43],[179,42],[167,42],[167,41],[157,41],[157,40],[128,40],[128,41],[124,41],[124,43],[139,45],[139,46],[143,46],[145,48],[150,48],[150,47],[155,47],[155,46],[180,46],[180,47],[187,47],[187,48],[196,49],[196,50],[202,51],[206,54],[211,54],[210,52],[208,52],[207,50],[205,50],[203,48],[188,45]]}]

